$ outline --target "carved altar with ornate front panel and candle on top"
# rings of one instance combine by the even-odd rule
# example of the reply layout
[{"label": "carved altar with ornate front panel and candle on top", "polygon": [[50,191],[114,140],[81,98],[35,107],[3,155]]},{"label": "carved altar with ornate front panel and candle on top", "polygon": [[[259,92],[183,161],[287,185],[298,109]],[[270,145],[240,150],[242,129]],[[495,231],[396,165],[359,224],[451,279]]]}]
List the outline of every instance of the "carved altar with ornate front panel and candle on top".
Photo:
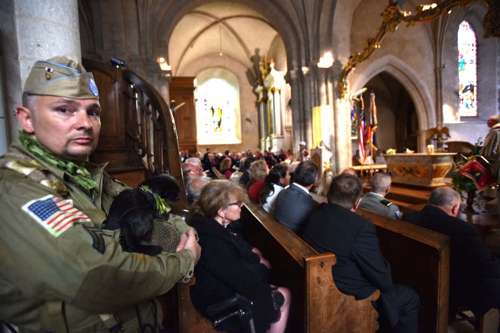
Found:
[{"label": "carved altar with ornate front panel and candle on top", "polygon": [[444,186],[456,153],[384,154],[392,182],[425,187]]}]

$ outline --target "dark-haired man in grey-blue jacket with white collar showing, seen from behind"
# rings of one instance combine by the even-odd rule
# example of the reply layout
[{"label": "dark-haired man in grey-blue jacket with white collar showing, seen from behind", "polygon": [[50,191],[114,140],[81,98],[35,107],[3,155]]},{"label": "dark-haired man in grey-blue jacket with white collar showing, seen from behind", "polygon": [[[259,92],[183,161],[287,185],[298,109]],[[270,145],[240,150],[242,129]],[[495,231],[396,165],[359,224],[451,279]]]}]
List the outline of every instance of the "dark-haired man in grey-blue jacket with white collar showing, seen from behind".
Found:
[{"label": "dark-haired man in grey-blue jacket with white collar showing, seen from behind", "polygon": [[300,236],[309,212],[318,205],[309,195],[319,170],[311,161],[301,162],[295,169],[293,184],[279,192],[276,198],[276,220]]}]

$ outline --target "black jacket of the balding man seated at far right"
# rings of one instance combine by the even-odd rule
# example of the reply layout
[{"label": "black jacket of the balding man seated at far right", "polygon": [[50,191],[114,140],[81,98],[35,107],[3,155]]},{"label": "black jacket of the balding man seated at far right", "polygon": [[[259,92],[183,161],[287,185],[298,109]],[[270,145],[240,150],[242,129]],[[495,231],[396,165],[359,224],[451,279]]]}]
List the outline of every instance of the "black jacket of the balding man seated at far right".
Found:
[{"label": "black jacket of the balding man seated at far right", "polygon": [[404,213],[402,220],[450,237],[450,314],[456,313],[457,306],[467,307],[477,316],[489,310],[481,304],[477,288],[485,278],[500,278],[500,263],[484,246],[477,228],[429,205],[419,212]]}]

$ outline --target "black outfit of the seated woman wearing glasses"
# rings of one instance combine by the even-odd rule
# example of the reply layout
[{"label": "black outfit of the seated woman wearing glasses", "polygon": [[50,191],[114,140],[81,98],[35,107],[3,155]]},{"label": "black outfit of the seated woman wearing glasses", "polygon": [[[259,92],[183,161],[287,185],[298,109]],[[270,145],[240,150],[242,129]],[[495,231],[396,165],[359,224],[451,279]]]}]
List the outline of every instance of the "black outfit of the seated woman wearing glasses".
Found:
[{"label": "black outfit of the seated woman wearing glasses", "polygon": [[[271,287],[245,262],[242,250],[228,231],[213,219],[193,222],[201,246],[201,257],[194,268],[195,284],[190,289],[193,305],[205,317],[206,308],[234,293],[246,296],[253,303],[253,319],[257,332],[265,332],[276,321],[279,311],[273,310]],[[222,322],[217,329],[244,332],[237,316]]]}]

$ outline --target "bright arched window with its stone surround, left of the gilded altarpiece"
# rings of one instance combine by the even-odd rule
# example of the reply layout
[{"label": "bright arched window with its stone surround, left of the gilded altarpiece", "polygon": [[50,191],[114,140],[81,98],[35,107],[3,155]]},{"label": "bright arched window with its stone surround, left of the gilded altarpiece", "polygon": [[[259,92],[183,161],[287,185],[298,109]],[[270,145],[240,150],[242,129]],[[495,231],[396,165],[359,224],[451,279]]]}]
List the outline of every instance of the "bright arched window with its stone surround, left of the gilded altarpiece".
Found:
[{"label": "bright arched window with its stone surround, left of the gilded altarpiece", "polygon": [[196,129],[198,144],[241,143],[239,88],[236,77],[221,68],[196,77]]}]

